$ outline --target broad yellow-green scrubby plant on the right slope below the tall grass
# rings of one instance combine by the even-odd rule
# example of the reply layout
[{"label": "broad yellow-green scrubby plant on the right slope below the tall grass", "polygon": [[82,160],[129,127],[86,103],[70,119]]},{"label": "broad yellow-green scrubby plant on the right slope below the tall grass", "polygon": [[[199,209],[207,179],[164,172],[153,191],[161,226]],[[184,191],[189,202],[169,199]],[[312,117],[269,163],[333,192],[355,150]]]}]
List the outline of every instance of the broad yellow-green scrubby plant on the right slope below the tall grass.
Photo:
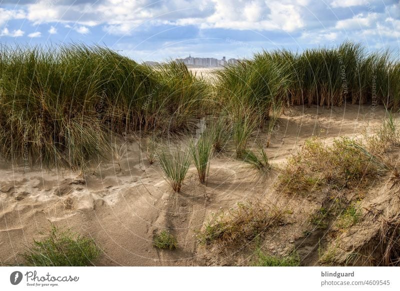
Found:
[{"label": "broad yellow-green scrubby plant on the right slope below the tall grass", "polygon": [[384,170],[386,166],[355,139],[341,137],[324,146],[319,138],[312,137],[287,159],[279,180],[287,191],[305,193],[323,183],[342,188]]}]

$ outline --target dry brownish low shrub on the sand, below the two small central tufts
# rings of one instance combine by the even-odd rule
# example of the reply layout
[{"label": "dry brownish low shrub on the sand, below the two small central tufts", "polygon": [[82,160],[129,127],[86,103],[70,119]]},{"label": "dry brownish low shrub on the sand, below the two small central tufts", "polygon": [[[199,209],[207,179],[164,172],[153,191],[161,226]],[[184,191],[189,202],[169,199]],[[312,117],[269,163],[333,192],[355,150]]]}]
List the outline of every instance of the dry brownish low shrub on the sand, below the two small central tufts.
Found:
[{"label": "dry brownish low shrub on the sand, below the two small central tufts", "polygon": [[202,229],[196,231],[200,243],[235,244],[243,239],[251,240],[268,227],[278,223],[282,212],[276,207],[259,201],[237,202],[235,208],[212,213]]}]

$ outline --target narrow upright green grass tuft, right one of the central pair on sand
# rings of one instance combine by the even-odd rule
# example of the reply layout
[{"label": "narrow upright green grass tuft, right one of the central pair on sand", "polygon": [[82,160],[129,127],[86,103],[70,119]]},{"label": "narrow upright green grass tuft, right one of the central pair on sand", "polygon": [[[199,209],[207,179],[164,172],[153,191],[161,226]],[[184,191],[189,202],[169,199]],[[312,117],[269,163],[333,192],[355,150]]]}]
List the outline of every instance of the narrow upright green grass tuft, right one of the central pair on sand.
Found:
[{"label": "narrow upright green grass tuft, right one of the central pair on sand", "polygon": [[193,139],[189,143],[189,151],[197,169],[200,183],[205,183],[208,170],[209,160],[212,155],[212,142],[206,135],[201,135],[196,141]]}]

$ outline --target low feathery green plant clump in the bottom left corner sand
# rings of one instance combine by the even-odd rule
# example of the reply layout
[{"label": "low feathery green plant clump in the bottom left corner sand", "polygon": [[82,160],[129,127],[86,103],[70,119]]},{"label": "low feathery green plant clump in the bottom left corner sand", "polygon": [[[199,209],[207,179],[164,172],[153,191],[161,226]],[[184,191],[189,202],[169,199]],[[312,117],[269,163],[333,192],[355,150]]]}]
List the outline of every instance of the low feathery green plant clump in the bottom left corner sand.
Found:
[{"label": "low feathery green plant clump in the bottom left corner sand", "polygon": [[27,266],[87,266],[100,255],[92,238],[51,225],[47,236],[20,254]]}]

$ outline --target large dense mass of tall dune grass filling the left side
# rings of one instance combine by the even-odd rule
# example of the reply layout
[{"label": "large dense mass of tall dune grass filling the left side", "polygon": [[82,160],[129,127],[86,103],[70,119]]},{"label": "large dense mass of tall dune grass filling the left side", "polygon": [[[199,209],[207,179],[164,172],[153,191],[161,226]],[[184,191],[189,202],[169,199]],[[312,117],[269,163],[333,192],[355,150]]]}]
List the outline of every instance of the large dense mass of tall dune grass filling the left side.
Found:
[{"label": "large dense mass of tall dune grass filling the left side", "polygon": [[0,47],[0,154],[28,165],[80,166],[110,154],[109,134],[187,128],[204,80],[100,46]]}]

